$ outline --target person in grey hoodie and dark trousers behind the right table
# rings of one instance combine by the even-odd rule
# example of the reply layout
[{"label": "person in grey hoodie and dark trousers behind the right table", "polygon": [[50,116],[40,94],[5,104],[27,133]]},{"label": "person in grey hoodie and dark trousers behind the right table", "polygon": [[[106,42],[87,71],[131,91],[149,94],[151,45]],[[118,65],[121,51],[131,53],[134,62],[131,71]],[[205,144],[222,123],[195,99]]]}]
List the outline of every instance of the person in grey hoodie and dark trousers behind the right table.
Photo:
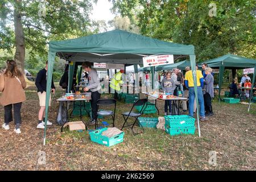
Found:
[{"label": "person in grey hoodie and dark trousers behind the right table", "polygon": [[[174,83],[174,80],[172,80],[172,78],[171,78],[171,72],[170,71],[168,71],[166,73],[166,77],[163,78],[163,80],[161,82],[161,88],[166,93],[174,94],[174,90],[176,88],[176,85]],[[172,101],[165,100],[164,101],[164,115],[167,115],[168,106],[169,106],[169,112],[171,114],[172,113]]]}]

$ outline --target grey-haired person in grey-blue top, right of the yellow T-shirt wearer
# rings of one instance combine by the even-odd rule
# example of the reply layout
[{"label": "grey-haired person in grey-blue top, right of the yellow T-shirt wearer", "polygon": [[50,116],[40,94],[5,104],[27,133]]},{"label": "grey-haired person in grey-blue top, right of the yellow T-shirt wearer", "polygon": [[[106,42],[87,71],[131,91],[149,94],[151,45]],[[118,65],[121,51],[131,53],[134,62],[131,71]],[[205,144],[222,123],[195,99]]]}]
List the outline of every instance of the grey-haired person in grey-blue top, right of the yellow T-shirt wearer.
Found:
[{"label": "grey-haired person in grey-blue top, right of the yellow T-shirt wearer", "polygon": [[212,111],[212,98],[214,97],[213,82],[214,78],[212,76],[212,68],[205,68],[205,74],[207,75],[204,78],[204,107],[205,115],[213,115]]}]

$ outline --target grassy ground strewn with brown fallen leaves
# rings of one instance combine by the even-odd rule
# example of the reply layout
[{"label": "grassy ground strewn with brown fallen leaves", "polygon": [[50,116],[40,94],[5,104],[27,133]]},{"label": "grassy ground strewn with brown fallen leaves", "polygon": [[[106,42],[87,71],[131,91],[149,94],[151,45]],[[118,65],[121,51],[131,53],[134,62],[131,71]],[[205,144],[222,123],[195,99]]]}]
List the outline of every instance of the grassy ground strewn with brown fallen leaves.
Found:
[{"label": "grassy ground strewn with brown fallen leaves", "polygon": [[[125,140],[112,147],[90,141],[88,131],[60,133],[60,126],[47,130],[43,146],[43,130],[36,129],[39,101],[36,89],[26,89],[27,101],[22,105],[22,134],[0,129],[0,170],[255,170],[256,169],[256,104],[247,113],[247,105],[213,102],[214,116],[201,122],[201,138],[195,135],[171,137],[164,131],[146,129],[134,136],[125,129]],[[55,121],[59,104],[55,94],[49,120]],[[158,102],[163,115],[163,102]],[[120,129],[131,104],[118,102],[116,126]],[[0,107],[0,124],[3,123]],[[157,117],[147,114],[145,117]],[[89,119],[89,118],[84,118]],[[209,152],[216,151],[217,166],[209,164]],[[46,154],[46,163],[40,154]]]}]

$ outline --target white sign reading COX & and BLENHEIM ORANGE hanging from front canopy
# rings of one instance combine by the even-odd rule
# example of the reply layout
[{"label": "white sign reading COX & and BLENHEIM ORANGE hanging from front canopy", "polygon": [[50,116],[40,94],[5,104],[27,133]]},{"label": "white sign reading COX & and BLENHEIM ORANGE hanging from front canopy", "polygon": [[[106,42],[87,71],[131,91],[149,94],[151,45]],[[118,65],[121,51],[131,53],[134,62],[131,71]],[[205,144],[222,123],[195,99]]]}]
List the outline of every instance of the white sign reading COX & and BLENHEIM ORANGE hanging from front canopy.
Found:
[{"label": "white sign reading COX & and BLENHEIM ORANGE hanging from front canopy", "polygon": [[143,57],[143,67],[156,67],[166,64],[174,64],[174,55]]}]

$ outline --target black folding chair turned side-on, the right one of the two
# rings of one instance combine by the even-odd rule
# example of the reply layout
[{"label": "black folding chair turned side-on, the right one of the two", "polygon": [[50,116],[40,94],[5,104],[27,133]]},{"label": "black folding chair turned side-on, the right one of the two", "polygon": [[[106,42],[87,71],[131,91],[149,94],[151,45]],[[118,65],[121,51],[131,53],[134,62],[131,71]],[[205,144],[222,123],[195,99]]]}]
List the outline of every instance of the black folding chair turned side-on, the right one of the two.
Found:
[{"label": "black folding chair turned side-on, the right one of the two", "polygon": [[[142,115],[142,110],[144,109],[144,105],[145,105],[146,103],[147,103],[147,99],[146,99],[146,98],[137,100],[137,101],[134,102],[133,107],[131,107],[130,112],[122,113],[123,119],[125,119],[125,122],[123,123],[123,126],[122,126],[121,130],[123,130],[124,127],[130,127],[130,126],[131,126],[130,129],[131,129],[131,131],[133,131],[133,134],[134,134],[134,135],[140,134],[140,133],[142,133],[142,132],[144,131],[143,127],[141,126],[143,131],[140,132],[140,133],[135,133],[134,130],[133,130],[133,127],[134,127],[135,123],[138,122],[138,117],[140,117],[140,116]],[[143,107],[142,107],[142,109],[139,111],[139,113],[136,113],[136,112],[132,111],[133,108],[134,108],[134,106],[142,106],[142,105],[143,105]],[[135,121],[134,121],[133,124],[130,124],[130,125],[126,125],[126,126],[125,126],[125,123],[127,122],[127,120],[128,120],[129,117],[135,118]],[[138,125],[139,125],[139,123],[138,123]]]}]

